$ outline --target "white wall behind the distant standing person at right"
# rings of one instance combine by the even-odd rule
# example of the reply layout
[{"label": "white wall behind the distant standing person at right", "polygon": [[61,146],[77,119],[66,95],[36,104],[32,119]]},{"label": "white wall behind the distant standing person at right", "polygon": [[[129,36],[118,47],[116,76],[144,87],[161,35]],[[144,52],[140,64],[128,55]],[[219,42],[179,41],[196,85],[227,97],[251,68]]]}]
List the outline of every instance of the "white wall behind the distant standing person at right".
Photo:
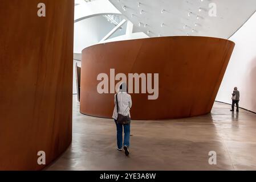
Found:
[{"label": "white wall behind the distant standing person at right", "polygon": [[240,91],[239,107],[256,112],[256,13],[229,39],[235,48],[216,101],[231,103],[234,86]]}]

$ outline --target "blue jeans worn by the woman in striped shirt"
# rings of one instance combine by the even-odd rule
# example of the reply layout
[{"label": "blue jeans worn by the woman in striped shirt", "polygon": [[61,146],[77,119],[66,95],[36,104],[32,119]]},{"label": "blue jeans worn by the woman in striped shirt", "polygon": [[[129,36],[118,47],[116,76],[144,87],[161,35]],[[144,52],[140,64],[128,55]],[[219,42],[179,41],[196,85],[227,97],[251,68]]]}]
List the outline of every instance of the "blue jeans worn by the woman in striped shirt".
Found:
[{"label": "blue jeans worn by the woman in striped shirt", "polygon": [[119,149],[121,149],[123,147],[123,126],[124,126],[124,146],[129,147],[130,146],[130,127],[131,124],[129,125],[120,125],[119,123],[117,123],[116,119],[115,119],[115,123],[116,123],[116,138],[117,138],[117,147]]}]

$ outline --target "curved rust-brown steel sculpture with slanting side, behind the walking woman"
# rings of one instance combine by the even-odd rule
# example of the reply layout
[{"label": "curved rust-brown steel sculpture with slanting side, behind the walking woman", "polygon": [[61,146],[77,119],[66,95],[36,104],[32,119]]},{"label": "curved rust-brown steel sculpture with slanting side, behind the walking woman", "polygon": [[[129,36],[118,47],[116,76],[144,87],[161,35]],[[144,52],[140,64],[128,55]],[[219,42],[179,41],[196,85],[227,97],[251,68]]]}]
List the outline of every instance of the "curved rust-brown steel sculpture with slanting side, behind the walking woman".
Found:
[{"label": "curved rust-brown steel sculpture with slanting side, behind the walking woman", "polygon": [[[112,117],[114,94],[97,93],[97,75],[159,73],[159,98],[131,94],[132,119],[172,119],[211,111],[234,43],[218,38],[172,36],[98,44],[82,53],[80,111]],[[116,81],[117,83],[118,81]]]}]

